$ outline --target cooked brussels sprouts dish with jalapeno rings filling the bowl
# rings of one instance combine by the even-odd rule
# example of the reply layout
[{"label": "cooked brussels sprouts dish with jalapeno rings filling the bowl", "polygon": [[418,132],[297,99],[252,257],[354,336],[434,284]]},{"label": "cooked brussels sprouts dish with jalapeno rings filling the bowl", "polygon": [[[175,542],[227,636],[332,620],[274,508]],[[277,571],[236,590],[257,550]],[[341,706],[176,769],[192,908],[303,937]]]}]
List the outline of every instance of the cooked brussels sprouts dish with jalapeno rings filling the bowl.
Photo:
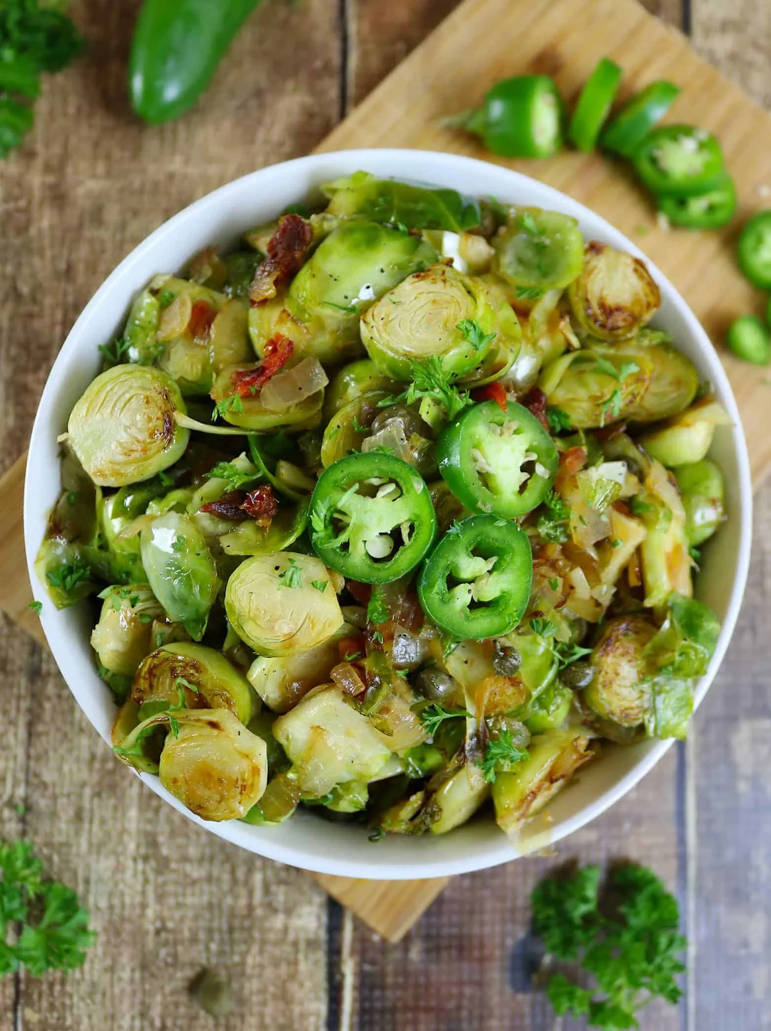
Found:
[{"label": "cooked brussels sprouts dish with jalapeno rings filling the bowl", "polygon": [[574,219],[322,195],[139,294],[38,573],[95,605],[116,756],[204,820],[516,835],[607,742],[686,734],[728,415]]}]

